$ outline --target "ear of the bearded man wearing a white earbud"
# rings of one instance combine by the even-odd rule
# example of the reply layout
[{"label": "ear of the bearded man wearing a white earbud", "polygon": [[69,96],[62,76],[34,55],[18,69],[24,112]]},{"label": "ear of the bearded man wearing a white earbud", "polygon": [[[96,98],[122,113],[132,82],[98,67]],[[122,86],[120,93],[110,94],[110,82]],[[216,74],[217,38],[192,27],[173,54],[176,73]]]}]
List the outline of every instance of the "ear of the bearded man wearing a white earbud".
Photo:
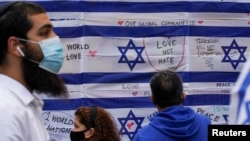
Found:
[{"label": "ear of the bearded man wearing a white earbud", "polygon": [[19,40],[16,37],[14,36],[9,37],[7,46],[9,53],[14,54],[16,56],[21,56],[20,52],[17,49],[17,47],[19,46]]}]

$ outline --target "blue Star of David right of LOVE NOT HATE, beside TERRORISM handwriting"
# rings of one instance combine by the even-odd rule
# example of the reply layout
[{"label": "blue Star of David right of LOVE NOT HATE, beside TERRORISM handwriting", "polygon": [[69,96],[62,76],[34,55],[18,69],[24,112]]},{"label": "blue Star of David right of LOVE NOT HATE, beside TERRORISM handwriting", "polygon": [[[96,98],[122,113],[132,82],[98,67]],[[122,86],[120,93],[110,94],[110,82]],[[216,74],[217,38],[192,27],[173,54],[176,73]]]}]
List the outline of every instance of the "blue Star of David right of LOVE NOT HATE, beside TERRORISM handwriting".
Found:
[{"label": "blue Star of David right of LOVE NOT HATE, beside TERRORISM handwriting", "polygon": [[[239,65],[240,62],[243,62],[243,63],[246,62],[247,59],[246,59],[246,57],[244,56],[244,53],[245,53],[247,47],[245,47],[245,46],[242,46],[242,47],[238,46],[238,44],[237,44],[237,42],[235,41],[235,39],[233,40],[233,42],[231,43],[230,46],[222,46],[221,48],[222,48],[222,50],[223,50],[224,53],[225,53],[225,56],[224,56],[224,58],[222,59],[222,62],[230,62],[230,63],[232,64],[234,70],[237,68],[237,66]],[[238,52],[239,52],[239,54],[240,54],[238,60],[233,60],[233,59],[229,56],[229,55],[230,55],[230,51],[231,51],[232,49],[238,50]]]}]

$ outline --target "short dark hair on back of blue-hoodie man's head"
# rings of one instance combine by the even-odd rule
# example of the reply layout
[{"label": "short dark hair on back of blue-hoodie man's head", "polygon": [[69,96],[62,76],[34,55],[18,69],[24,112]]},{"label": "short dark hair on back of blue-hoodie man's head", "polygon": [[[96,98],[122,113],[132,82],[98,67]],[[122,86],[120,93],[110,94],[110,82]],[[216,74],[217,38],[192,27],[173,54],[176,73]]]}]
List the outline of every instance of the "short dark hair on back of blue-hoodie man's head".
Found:
[{"label": "short dark hair on back of blue-hoodie man's head", "polygon": [[178,73],[165,70],[156,73],[150,81],[153,103],[161,108],[180,105],[183,84]]}]

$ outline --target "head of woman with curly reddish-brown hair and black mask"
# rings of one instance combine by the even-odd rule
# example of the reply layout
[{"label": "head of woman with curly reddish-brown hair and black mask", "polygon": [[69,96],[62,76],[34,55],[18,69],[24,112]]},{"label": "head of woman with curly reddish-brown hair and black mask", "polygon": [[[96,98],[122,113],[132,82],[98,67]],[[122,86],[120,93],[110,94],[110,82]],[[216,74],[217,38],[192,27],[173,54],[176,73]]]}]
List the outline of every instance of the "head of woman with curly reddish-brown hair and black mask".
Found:
[{"label": "head of woman with curly reddish-brown hair and black mask", "polygon": [[75,111],[71,141],[120,141],[116,123],[101,107],[79,107]]}]

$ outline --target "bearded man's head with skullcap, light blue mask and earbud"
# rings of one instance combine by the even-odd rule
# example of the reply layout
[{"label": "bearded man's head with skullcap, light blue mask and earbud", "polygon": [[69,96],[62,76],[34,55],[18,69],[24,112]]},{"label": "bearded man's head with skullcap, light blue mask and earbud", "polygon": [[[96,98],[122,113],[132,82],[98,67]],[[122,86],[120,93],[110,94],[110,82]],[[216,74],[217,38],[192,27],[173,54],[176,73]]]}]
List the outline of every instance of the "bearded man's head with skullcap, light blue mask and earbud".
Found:
[{"label": "bearded man's head with skullcap, light blue mask and earbud", "polygon": [[1,73],[31,91],[67,96],[67,88],[56,75],[64,58],[63,48],[42,6],[32,2],[1,5],[0,39]]}]

